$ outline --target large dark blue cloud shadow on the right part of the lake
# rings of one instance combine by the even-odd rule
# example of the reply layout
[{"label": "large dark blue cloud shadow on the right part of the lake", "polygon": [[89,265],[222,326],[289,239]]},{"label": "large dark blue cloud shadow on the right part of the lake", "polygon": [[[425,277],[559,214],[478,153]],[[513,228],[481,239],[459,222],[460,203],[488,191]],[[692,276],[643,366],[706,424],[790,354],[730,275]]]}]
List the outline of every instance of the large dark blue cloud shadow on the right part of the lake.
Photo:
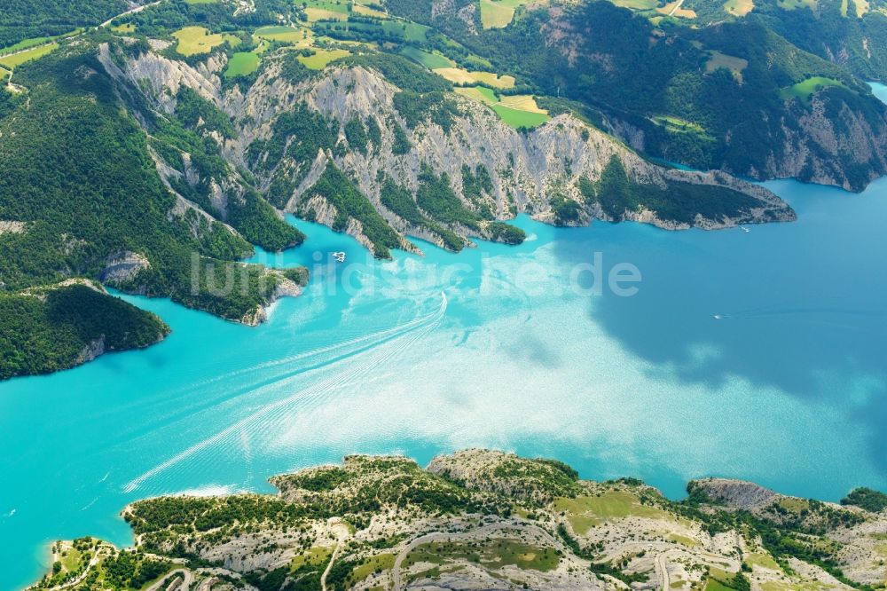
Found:
[{"label": "large dark blue cloud shadow on the right part of the lake", "polygon": [[636,296],[605,290],[589,314],[656,371],[712,392],[740,378],[750,396],[777,389],[844,414],[887,476],[887,178],[861,195],[767,186],[797,209],[796,223],[749,232],[596,223],[588,240],[559,241],[559,256],[585,262],[600,251],[640,268]]}]

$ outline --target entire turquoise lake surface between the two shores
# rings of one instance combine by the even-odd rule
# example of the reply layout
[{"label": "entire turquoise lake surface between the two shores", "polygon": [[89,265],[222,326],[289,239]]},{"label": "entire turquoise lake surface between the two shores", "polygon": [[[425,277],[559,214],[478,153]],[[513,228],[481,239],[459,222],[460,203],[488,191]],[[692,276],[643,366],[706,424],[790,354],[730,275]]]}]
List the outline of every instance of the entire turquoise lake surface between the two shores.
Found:
[{"label": "entire turquoise lake surface between the two shores", "polygon": [[[796,223],[521,217],[519,247],[417,242],[425,256],[378,262],[294,221],[305,245],[255,260],[313,279],[261,327],[125,296],[169,338],[0,384],[0,589],[35,579],[50,540],[129,543],[132,500],[269,491],[346,453],[490,446],[674,497],[701,476],[827,500],[887,489],[887,178],[861,194],[765,185]],[[635,296],[589,293],[595,253],[604,279],[634,265]]]}]

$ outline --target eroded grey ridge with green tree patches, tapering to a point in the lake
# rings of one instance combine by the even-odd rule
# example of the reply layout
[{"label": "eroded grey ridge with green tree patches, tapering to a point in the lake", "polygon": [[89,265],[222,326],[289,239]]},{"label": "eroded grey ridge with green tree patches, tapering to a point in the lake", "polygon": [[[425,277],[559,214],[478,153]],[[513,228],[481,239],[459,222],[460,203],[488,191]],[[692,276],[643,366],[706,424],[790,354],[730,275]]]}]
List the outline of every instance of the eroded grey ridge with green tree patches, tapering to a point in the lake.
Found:
[{"label": "eroded grey ridge with green tree patches, tapering to a point in the lake", "polygon": [[[277,207],[348,232],[377,256],[415,248],[406,234],[453,250],[472,237],[520,241],[499,221],[519,212],[561,225],[600,217],[670,228],[793,218],[757,186],[656,166],[571,114],[514,130],[396,56],[311,73],[283,52],[265,59],[246,92],[223,87],[223,67],[200,71],[145,51],[124,70],[162,113],[177,113],[192,89],[232,114],[232,137],[214,136],[230,169],[248,170]],[[164,176],[194,177],[181,164],[164,162]],[[218,194],[208,199],[228,201],[224,178],[209,185]]]}]

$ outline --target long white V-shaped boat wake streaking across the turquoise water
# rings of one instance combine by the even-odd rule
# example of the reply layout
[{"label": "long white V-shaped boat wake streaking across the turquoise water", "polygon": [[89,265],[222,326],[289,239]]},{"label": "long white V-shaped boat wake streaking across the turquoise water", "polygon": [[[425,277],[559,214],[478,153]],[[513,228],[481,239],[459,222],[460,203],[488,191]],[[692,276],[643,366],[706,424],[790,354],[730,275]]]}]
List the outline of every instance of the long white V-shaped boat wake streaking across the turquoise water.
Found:
[{"label": "long white V-shaped boat wake streaking across the turquoise water", "polygon": [[[289,422],[289,419],[294,416],[295,412],[303,409],[305,406],[309,406],[320,398],[326,398],[335,391],[341,390],[381,364],[388,362],[390,359],[395,359],[398,355],[407,351],[412,343],[416,343],[441,324],[446,314],[446,308],[447,298],[441,292],[439,308],[425,317],[386,331],[381,331],[381,333],[373,333],[373,335],[352,339],[346,343],[339,343],[318,351],[309,351],[287,360],[281,359],[267,364],[266,367],[279,366],[299,359],[310,359],[310,357],[328,354],[325,360],[315,362],[313,368],[334,371],[330,377],[308,388],[298,390],[286,398],[259,406],[238,422],[232,423],[227,428],[218,431],[215,435],[206,437],[168,460],[162,461],[141,476],[133,478],[126,485],[123,485],[123,492],[132,493],[148,480],[182,461],[192,458],[197,453],[209,449],[232,447],[233,445],[238,445],[242,449],[247,439],[258,436],[268,437],[268,434],[275,430],[270,429],[272,426]],[[348,365],[342,363],[345,360],[348,361]],[[281,382],[286,383],[290,378],[301,376],[305,372],[306,369],[302,367],[298,370],[275,376],[270,380],[263,381],[261,388],[279,387]]]}]

